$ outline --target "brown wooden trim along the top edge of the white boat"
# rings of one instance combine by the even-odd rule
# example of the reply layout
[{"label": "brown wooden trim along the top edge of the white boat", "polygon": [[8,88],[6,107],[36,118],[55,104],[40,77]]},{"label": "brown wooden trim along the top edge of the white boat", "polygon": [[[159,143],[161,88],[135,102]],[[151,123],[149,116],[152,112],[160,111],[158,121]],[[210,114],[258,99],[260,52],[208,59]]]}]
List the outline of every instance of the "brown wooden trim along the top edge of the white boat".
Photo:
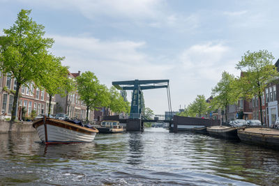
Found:
[{"label": "brown wooden trim along the top edge of the white boat", "polygon": [[[66,128],[68,130],[73,130],[76,132],[82,132],[84,134],[91,134],[92,132],[98,132],[98,130],[96,128],[90,129],[90,128],[86,128],[86,127],[82,127],[80,125],[75,125],[73,123],[69,123],[66,121],[61,121],[61,120],[56,120],[56,119],[50,119],[47,118],[45,123],[47,123],[47,125],[54,125],[57,127],[63,127]],[[38,127],[40,125],[43,125],[43,119],[40,119],[38,121],[34,121],[33,122],[33,127]]]}]

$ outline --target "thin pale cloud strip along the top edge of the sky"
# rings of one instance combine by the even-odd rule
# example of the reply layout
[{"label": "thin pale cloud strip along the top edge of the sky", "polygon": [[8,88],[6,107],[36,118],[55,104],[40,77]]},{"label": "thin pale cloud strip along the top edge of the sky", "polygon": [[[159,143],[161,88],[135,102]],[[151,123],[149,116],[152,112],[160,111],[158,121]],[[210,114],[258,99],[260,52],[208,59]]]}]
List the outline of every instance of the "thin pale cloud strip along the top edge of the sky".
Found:
[{"label": "thin pale cloud strip along the top edge of the sky", "polygon": [[156,17],[158,8],[164,4],[163,0],[60,0],[60,1],[34,1],[18,0],[24,3],[37,4],[40,6],[49,6],[56,9],[78,10],[84,17],[89,19],[97,15],[123,16],[129,18],[135,17]]}]

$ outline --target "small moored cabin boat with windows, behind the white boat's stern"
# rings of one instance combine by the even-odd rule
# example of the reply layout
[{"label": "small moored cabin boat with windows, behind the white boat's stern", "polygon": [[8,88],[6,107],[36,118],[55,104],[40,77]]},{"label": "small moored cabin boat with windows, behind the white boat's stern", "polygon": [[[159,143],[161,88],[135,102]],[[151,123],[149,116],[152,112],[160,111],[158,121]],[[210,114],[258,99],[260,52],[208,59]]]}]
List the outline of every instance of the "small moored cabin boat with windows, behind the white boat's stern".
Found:
[{"label": "small moored cabin boat with windows, behind the white boat's stern", "polygon": [[99,133],[120,133],[125,130],[119,125],[119,121],[102,121],[99,126],[96,126]]}]

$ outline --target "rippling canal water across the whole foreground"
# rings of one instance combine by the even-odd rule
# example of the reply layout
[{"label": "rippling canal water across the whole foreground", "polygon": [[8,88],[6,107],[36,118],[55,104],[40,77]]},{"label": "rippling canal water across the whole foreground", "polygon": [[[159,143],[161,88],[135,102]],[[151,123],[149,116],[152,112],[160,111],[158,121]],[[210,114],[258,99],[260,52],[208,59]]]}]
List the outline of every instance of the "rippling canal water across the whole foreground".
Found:
[{"label": "rippling canal water across the whole foreground", "polygon": [[279,185],[278,151],[202,134],[97,134],[45,146],[0,134],[0,185]]}]

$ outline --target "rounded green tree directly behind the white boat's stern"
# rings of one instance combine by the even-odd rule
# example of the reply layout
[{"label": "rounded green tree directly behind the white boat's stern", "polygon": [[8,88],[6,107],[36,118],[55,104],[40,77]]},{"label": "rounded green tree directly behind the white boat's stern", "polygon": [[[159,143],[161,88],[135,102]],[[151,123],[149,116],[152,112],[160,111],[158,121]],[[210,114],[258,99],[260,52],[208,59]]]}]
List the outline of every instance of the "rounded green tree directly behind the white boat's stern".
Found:
[{"label": "rounded green tree directly behind the white boat's stern", "polygon": [[109,92],[105,85],[100,84],[93,72],[86,71],[76,79],[80,100],[86,104],[86,121],[88,121],[89,109],[98,109],[109,104]]}]

